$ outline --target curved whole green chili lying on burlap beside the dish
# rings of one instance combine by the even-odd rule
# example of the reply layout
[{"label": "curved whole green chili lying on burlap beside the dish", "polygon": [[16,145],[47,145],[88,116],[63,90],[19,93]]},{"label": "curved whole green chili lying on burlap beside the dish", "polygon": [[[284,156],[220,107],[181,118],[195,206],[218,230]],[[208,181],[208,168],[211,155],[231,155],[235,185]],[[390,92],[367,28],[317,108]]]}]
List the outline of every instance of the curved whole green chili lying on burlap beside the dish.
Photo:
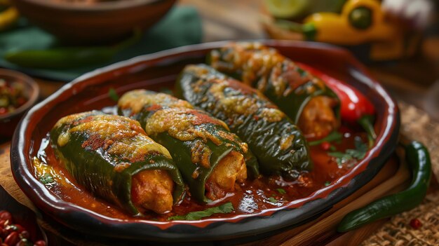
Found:
[{"label": "curved whole green chili lying on burlap beside the dish", "polygon": [[431,177],[430,155],[423,144],[413,141],[405,146],[405,159],[412,170],[410,186],[405,191],[385,196],[346,214],[337,227],[337,231],[350,231],[372,221],[411,210],[422,202]]}]

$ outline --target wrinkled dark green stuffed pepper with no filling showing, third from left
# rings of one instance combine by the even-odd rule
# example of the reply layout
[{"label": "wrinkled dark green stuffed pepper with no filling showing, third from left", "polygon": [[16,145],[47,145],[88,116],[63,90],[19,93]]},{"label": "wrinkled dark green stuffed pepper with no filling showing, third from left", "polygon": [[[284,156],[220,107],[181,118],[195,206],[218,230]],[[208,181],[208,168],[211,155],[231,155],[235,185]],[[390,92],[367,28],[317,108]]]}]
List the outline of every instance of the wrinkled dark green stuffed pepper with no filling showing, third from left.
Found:
[{"label": "wrinkled dark green stuffed pepper with no filling showing, third from left", "polygon": [[248,143],[262,173],[295,179],[311,170],[302,132],[259,91],[200,64],[182,71],[177,95],[226,122]]}]

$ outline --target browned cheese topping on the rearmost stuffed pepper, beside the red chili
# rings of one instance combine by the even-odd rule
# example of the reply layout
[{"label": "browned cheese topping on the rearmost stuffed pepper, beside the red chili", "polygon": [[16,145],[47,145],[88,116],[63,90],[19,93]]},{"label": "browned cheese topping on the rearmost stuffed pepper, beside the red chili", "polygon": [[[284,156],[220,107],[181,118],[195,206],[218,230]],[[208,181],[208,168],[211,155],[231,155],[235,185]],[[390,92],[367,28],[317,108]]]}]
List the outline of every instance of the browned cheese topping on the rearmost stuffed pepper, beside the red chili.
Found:
[{"label": "browned cheese topping on the rearmost stuffed pepper, beside the red chili", "polygon": [[299,73],[295,62],[261,43],[231,43],[213,51],[211,57],[212,67],[228,72],[241,71],[241,80],[261,91],[270,83],[278,96],[287,96],[308,81],[313,85],[307,88],[308,93],[325,89],[323,81],[307,72]]}]

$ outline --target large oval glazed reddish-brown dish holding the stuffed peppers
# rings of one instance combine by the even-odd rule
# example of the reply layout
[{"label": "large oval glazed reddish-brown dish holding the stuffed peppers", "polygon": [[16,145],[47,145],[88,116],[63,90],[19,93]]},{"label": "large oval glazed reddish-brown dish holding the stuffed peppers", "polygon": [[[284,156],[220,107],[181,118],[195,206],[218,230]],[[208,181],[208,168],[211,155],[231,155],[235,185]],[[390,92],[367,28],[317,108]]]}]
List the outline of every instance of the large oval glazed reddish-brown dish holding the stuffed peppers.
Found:
[{"label": "large oval glazed reddish-brown dish holding the stuffed peppers", "polygon": [[160,90],[173,86],[184,65],[204,61],[212,48],[225,42],[203,43],[135,57],[85,74],[33,107],[22,119],[11,146],[13,175],[26,195],[43,212],[66,226],[102,237],[184,242],[258,238],[315,219],[366,184],[395,149],[400,119],[396,103],[349,53],[335,46],[294,41],[263,41],[292,60],[320,69],[355,86],[377,109],[377,144],[366,157],[330,186],[278,209],[227,219],[201,221],[140,221],[104,217],[67,203],[50,193],[32,174],[31,158],[41,139],[62,116],[115,104],[109,88],[121,94],[135,88]]}]

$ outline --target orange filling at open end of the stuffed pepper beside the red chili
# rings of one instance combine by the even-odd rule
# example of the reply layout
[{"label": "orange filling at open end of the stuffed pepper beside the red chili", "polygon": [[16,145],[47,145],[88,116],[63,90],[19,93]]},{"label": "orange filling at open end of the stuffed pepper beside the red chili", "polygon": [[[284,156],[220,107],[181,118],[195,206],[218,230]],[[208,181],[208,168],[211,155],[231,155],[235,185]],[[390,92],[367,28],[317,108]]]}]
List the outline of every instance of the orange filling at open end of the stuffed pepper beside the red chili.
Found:
[{"label": "orange filling at open end of the stuffed pepper beside the red chili", "polygon": [[338,127],[332,107],[337,102],[330,97],[318,96],[309,100],[299,118],[298,126],[306,137],[325,137]]}]

